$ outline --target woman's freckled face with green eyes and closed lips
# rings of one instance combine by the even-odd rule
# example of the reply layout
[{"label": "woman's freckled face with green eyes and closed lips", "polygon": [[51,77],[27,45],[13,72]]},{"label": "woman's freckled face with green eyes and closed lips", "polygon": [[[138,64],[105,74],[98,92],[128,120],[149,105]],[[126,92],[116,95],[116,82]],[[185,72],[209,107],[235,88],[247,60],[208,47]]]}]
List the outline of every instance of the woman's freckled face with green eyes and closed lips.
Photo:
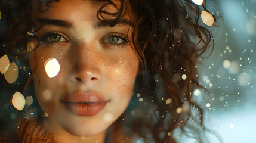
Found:
[{"label": "woman's freckled face with green eyes and closed lips", "polygon": [[30,66],[52,130],[97,135],[124,113],[131,99],[139,60],[129,42],[129,16],[114,27],[100,23],[96,15],[102,5],[61,0],[36,13],[43,26],[34,34],[41,44],[30,52]]}]

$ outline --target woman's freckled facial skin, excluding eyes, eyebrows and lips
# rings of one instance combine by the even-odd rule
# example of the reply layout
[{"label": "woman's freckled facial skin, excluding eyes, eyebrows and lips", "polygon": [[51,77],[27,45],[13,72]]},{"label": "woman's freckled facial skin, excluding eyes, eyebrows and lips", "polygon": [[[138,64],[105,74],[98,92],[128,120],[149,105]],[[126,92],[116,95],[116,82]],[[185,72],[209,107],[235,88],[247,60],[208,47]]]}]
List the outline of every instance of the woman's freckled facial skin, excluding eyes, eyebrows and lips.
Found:
[{"label": "woman's freckled facial skin, excluding eyes, eyebrows and lips", "polygon": [[[95,15],[99,8],[95,5],[96,2],[92,1],[60,1],[53,2],[44,13],[37,11],[38,18],[72,23],[70,28],[54,25],[41,27],[35,33],[39,38],[54,31],[63,35],[63,41],[43,41],[30,54],[31,67],[37,64],[32,69],[35,73],[36,96],[49,118],[45,126],[56,136],[103,136],[105,130],[125,111],[131,99],[138,57],[129,43],[115,46],[104,40],[106,35],[113,32],[129,38],[129,26],[94,29],[92,25],[98,21]],[[74,13],[79,14],[74,16]],[[49,58],[56,58],[60,64],[60,72],[53,78],[45,73],[44,64]],[[48,100],[42,97],[45,90],[52,95]],[[94,92],[109,102],[94,116],[78,116],[67,110],[60,101],[78,91]]]}]

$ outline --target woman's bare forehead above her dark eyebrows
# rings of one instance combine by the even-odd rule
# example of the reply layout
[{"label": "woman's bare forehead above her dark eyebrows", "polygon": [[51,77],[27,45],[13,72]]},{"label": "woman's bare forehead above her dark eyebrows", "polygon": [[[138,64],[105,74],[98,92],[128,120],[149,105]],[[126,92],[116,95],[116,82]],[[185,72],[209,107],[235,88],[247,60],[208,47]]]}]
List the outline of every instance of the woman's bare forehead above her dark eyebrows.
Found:
[{"label": "woman's bare forehead above her dark eyebrows", "polygon": [[[119,1],[113,1],[114,4],[119,7]],[[50,7],[45,6],[45,2],[39,4],[40,10],[37,11],[36,17],[49,18],[49,19],[61,19],[67,21],[96,21],[97,12],[103,5],[104,11],[108,13],[116,13],[117,7],[113,4],[107,4],[107,1],[96,0],[60,0],[58,2],[51,2]],[[45,10],[45,11],[44,11]],[[110,15],[104,15],[104,18],[110,18]]]}]

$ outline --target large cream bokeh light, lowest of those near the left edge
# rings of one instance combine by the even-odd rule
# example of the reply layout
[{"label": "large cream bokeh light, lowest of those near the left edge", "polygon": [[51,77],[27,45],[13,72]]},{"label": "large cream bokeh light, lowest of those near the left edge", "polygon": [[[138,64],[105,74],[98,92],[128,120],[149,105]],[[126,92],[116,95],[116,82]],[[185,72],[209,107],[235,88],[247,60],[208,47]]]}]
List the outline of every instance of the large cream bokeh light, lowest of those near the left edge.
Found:
[{"label": "large cream bokeh light, lowest of those near the left edge", "polygon": [[13,98],[11,100],[11,104],[13,104],[13,107],[16,108],[17,110],[23,110],[25,106],[25,98],[20,92],[15,92],[13,94]]}]

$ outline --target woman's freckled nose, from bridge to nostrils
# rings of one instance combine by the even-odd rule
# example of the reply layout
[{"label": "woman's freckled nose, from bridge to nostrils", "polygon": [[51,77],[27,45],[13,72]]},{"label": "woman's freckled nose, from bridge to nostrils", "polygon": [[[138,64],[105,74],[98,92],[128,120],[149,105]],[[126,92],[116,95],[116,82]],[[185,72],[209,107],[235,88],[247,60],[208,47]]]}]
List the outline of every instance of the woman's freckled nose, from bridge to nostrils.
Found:
[{"label": "woman's freckled nose, from bridge to nostrils", "polygon": [[95,83],[101,78],[97,48],[88,43],[78,43],[70,49],[72,69],[69,78],[73,83]]}]

